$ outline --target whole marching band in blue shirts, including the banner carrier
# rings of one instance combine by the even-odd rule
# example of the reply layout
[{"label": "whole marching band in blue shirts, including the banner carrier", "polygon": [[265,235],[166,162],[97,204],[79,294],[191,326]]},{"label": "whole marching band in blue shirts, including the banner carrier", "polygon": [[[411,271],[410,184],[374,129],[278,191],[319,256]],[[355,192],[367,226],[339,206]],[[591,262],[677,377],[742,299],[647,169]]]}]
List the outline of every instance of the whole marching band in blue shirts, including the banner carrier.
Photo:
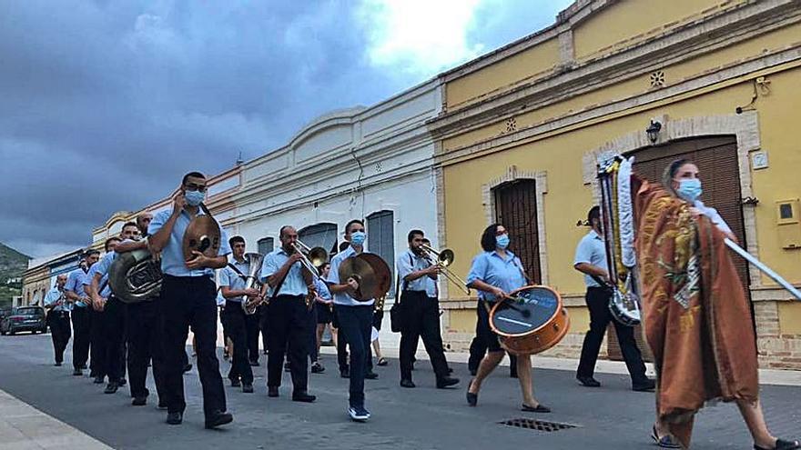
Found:
[{"label": "whole marching band in blue shirts, including the banner carrier", "polygon": [[[680,339],[678,327],[686,332],[689,326],[686,321],[671,322],[672,316],[666,316],[664,311],[670,308],[686,311],[687,305],[703,310],[711,308],[708,302],[712,300],[706,298],[707,294],[699,294],[703,290],[687,291],[677,278],[669,283],[664,274],[668,269],[654,264],[654,260],[674,261],[679,252],[684,252],[682,255],[702,250],[716,252],[723,247],[719,244],[728,228],[714,209],[697,201],[700,182],[692,162],[680,161],[669,166],[664,186],[650,185],[633,173],[615,172],[624,166],[625,161],[620,158],[613,165],[600,168],[599,179],[605,176],[608,182],[611,176],[615,187],[623,187],[617,191],[620,195],[602,195],[600,207],[590,210],[587,225],[592,230],[579,243],[574,259],[575,269],[586,275],[586,302],[591,317],[576,373],[579,383],[600,385],[593,378],[595,360],[606,325],[613,322],[634,390],[654,390],[654,381],[645,376],[631,327],[639,322],[634,318],[641,318],[647,342],[657,358],[654,444],[687,448],[693,413],[705,400],[721,399],[735,401],[740,406],[754,435],[755,449],[801,448],[797,441],[777,439],[767,430],[758,400],[753,335],[745,333],[745,337],[737,340],[743,345],[726,354],[738,355],[734,360],[715,358],[718,364],[726,365],[717,367],[719,371],[734,375],[716,378],[714,387],[677,384],[676,379],[684,378],[676,371],[684,369],[676,364],[670,368],[664,365],[671,358],[691,361],[708,351],[701,345],[698,349],[682,348],[676,355],[675,345],[664,345],[666,341]],[[629,189],[629,193],[624,192]],[[325,249],[309,248],[300,242],[293,225],[281,227],[280,246],[268,255],[246,254],[245,239],[241,236],[228,239],[203,204],[206,192],[204,175],[198,172],[185,175],[171,209],[157,215],[140,215],[136,223],[123,226],[119,238],[106,242],[106,255],[99,262],[99,253],[90,250],[84,255],[85,267],[68,276],[58,275],[56,286],[45,299],[56,365],[63,362],[71,318],[75,375],[82,375],[91,348],[90,376],[96,383],[103,383],[107,377],[105,392],[114,394],[126,383],[127,361],[132,405],[145,405],[149,395],[146,387],[149,363],[158,406],[167,410],[167,424],[179,425],[187,408],[183,374],[188,364],[186,344],[191,326],[203,387],[205,425],[207,428],[227,425],[233,421],[233,415],[228,412],[217,357],[219,292],[223,299],[220,314],[225,334],[233,344],[228,372],[232,386],[241,386],[244,393],[254,392],[252,366],[259,364],[260,324],[260,331],[266,335],[268,396],[279,396],[286,356],[292,380],[291,399],[314,402],[316,396],[309,394],[309,358],[310,371],[322,373],[319,345],[325,327],[330,324],[338,331],[335,336],[340,375],[348,378],[350,384],[347,414],[353,421],[369,420],[365,379],[378,376],[372,371],[370,343],[374,340],[376,315],[383,313],[383,300],[392,285],[392,274],[385,261],[367,251],[364,223],[360,219],[348,222],[342,230],[345,243],[330,261]],[[626,201],[637,204],[632,208],[636,211],[634,218],[624,212]],[[675,214],[665,213],[668,210]],[[646,223],[650,227],[644,227]],[[672,239],[676,227],[683,227],[685,232],[691,230],[688,233],[703,229],[706,235],[699,234],[695,246],[687,248],[679,248],[685,243],[678,238],[674,245],[648,246]],[[621,235],[621,230],[629,228],[642,235],[636,244]],[[659,229],[664,229],[664,235],[654,235],[654,230]],[[448,268],[454,257],[452,251],[433,249],[423,231],[411,230],[408,242],[409,249],[398,256],[395,264],[397,303],[391,315],[392,329],[400,330],[401,335],[400,386],[415,387],[411,374],[419,340],[431,356],[436,386],[447,388],[460,382],[450,375],[442,345],[437,282],[444,279],[447,281],[443,283],[451,282],[468,294],[471,289],[478,292],[473,345],[486,348],[488,353],[482,359],[481,355],[475,358],[471,355],[475,359],[471,371],[475,370],[475,374],[466,386],[468,405],[478,405],[483,382],[505,352],[509,352],[515,357],[513,368],[521,386],[522,411],[550,413],[551,409],[534,395],[532,355],[556,345],[567,333],[570,321],[555,290],[529,282],[521,259],[510,250],[514,244],[510,230],[501,224],[492,224],[484,230],[480,239],[482,252],[473,259],[466,281]],[[636,265],[627,266],[625,257],[616,253],[626,250],[636,253]],[[703,255],[697,258],[702,259]],[[693,264],[699,264],[695,267],[699,279],[687,283],[710,283],[708,278],[712,275],[707,271],[717,274],[718,269],[729,270],[732,265],[730,259],[717,258],[715,267],[710,268],[705,265],[708,262],[697,263],[690,257],[682,267],[671,270],[687,273]],[[214,281],[216,270],[218,284]],[[692,276],[685,276],[684,281],[688,278]],[[729,290],[742,291],[736,276],[720,283],[726,283]],[[740,303],[735,302],[728,311],[734,311],[731,314],[736,315],[738,323],[747,323],[736,329],[751,330],[749,312],[740,307],[741,297],[735,295],[733,300]],[[634,317],[629,323],[619,316],[627,311]],[[711,313],[708,316],[713,317],[713,322],[719,321],[713,326],[723,330],[721,333],[735,330]],[[380,317],[377,320],[380,329]],[[735,319],[727,316],[726,320]],[[255,334],[250,323],[257,325]],[[701,342],[710,339],[704,330],[695,332]],[[251,342],[257,343],[255,351]],[[379,365],[384,364],[385,360]],[[669,376],[665,374],[667,370],[671,371]],[[668,383],[669,390],[665,389]],[[696,392],[703,388],[706,391]]]}]

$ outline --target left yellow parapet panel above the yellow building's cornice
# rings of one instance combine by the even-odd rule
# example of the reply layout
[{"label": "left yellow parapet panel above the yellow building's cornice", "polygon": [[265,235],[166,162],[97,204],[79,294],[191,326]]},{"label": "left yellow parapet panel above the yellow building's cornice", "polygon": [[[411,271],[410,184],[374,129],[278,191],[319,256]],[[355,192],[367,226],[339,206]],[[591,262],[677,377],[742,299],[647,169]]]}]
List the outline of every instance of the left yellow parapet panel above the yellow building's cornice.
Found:
[{"label": "left yellow parapet panel above the yellow building's cornice", "polygon": [[546,73],[558,61],[558,39],[550,39],[481,71],[462,76],[446,88],[448,109],[453,109],[455,105],[469,105],[477,97],[506,90],[525,78]]}]

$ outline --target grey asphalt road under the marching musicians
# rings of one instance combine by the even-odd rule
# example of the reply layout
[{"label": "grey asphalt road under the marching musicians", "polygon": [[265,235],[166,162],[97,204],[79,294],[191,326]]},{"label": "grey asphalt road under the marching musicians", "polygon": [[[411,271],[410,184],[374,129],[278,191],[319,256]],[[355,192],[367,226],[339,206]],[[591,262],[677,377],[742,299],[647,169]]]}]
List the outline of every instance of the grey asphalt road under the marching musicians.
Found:
[{"label": "grey asphalt road under the marching musicians", "polygon": [[[629,390],[623,375],[597,375],[600,389],[576,385],[566,371],[535,369],[537,396],[553,413],[522,413],[516,380],[501,367],[482,388],[479,406],[464,399],[469,379],[465,365],[453,365],[462,383],[455,389],[434,387],[427,361],[415,371],[416,389],[398,385],[398,362],[377,367],[380,378],[367,381],[370,422],[350,422],[346,415],[347,380],[341,379],[335,358],[324,355],[328,370],[310,375],[309,391],[315,404],[289,400],[289,374],[285,374],[279,398],[268,398],[262,365],[255,367],[255,394],[226,387],[228,409],[234,423],[220,430],[203,429],[197,370],[185,375],[188,409],[181,426],[165,425],[166,413],[151,403],[130,405],[127,387],[116,395],[104,395],[102,385],[87,376],[71,375],[71,365],[53,366],[49,335],[16,335],[0,338],[0,389],[75,426],[87,435],[115,448],[182,450],[197,448],[314,448],[325,449],[500,449],[500,448],[655,448],[649,437],[654,421],[654,395]],[[71,355],[66,355],[66,361]],[[536,365],[536,358],[535,363]],[[220,365],[227,371],[228,363]],[[768,424],[776,435],[801,437],[801,412],[796,407],[801,387],[763,386]],[[571,429],[541,432],[499,422],[531,418],[576,425]],[[2,439],[2,436],[0,436]],[[696,419],[697,449],[751,448],[751,439],[734,405],[707,408]]]}]

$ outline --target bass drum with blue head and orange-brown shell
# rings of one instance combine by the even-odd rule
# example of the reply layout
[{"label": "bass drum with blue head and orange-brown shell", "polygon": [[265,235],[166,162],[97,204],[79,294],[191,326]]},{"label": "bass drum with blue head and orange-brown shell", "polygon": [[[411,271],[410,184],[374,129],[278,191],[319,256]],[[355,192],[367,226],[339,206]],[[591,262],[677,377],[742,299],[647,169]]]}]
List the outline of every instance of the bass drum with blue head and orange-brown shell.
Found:
[{"label": "bass drum with blue head and orange-brown shell", "polygon": [[562,296],[548,286],[529,285],[496,302],[490,327],[513,355],[534,355],[559,344],[570,328]]}]

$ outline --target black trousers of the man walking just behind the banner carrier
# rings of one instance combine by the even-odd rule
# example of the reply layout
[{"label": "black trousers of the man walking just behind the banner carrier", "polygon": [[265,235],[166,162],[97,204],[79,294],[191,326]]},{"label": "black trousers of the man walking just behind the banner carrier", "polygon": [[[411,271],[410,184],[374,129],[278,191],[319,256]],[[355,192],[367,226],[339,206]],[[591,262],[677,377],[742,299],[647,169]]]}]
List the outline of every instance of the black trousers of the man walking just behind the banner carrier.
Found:
[{"label": "black trousers of the man walking just behind the banner carrier", "polygon": [[620,344],[621,353],[629,375],[632,376],[634,385],[643,384],[646,381],[645,365],[643,355],[637,348],[634,341],[634,327],[618,323],[613,319],[609,312],[609,300],[612,298],[612,291],[603,287],[588,287],[587,295],[584,297],[587,307],[590,309],[590,330],[584,336],[582,345],[582,357],[579,362],[577,376],[593,376],[595,373],[595,363],[598,360],[598,351],[601,350],[603,335],[609,322],[614,324],[614,331],[617,333],[617,342]]}]

